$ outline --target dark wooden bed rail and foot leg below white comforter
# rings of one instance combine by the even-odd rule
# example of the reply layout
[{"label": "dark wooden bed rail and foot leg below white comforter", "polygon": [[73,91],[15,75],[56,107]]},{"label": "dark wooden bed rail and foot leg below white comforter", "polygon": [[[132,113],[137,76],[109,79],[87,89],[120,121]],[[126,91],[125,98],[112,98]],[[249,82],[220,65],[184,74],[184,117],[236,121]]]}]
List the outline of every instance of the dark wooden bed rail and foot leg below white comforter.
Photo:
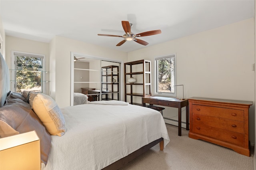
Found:
[{"label": "dark wooden bed rail and foot leg below white comforter", "polygon": [[132,152],[131,154],[128,154],[127,156],[114,162],[113,164],[106,166],[102,170],[116,170],[118,168],[121,168],[122,166],[124,166],[128,162],[134,160],[135,158],[137,158],[138,156],[140,156],[141,154],[143,154],[144,152],[146,152],[147,150],[149,150],[150,148],[152,148],[153,146],[155,146],[158,143],[160,146],[160,150],[164,150],[164,138],[160,138],[160,139],[157,139],[157,140],[143,146],[142,148]]}]

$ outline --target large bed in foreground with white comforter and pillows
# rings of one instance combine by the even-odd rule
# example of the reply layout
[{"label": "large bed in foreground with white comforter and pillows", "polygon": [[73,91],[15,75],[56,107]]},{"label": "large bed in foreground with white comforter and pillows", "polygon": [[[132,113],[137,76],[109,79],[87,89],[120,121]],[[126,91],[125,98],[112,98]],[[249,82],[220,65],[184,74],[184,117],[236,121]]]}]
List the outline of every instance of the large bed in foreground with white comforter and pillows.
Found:
[{"label": "large bed in foreground with white comforter and pillows", "polygon": [[0,137],[36,130],[42,170],[114,170],[158,143],[163,150],[170,141],[162,115],[153,109],[123,101],[59,108],[42,93],[29,93],[28,99],[8,93],[2,55],[0,62]]}]

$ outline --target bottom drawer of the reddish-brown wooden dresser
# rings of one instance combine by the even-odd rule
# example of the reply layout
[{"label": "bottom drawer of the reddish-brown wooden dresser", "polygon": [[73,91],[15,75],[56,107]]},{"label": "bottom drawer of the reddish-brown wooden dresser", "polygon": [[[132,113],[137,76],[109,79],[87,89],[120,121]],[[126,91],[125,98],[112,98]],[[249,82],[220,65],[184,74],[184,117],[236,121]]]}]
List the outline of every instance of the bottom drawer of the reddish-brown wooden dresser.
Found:
[{"label": "bottom drawer of the reddish-brown wooden dresser", "polygon": [[223,142],[235,144],[237,146],[244,146],[244,134],[238,132],[232,132],[216,127],[210,127],[198,123],[193,123],[192,132],[215,138]]}]

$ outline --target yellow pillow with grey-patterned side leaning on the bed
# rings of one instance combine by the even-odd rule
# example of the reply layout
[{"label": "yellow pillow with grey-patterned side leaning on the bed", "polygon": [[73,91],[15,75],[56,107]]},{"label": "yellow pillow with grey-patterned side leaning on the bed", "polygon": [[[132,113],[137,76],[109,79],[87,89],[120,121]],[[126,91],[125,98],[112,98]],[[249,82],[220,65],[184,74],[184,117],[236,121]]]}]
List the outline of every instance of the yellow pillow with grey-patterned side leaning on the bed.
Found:
[{"label": "yellow pillow with grey-patterned side leaning on the bed", "polygon": [[30,92],[29,104],[51,135],[65,134],[65,119],[52,97]]}]

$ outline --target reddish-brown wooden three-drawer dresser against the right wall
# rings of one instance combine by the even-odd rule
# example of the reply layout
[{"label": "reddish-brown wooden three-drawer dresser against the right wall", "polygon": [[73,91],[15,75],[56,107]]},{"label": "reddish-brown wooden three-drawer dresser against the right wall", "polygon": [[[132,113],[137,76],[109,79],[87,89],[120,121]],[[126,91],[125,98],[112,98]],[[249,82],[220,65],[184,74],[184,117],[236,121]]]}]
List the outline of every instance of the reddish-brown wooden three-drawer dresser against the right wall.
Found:
[{"label": "reddish-brown wooden three-drawer dresser against the right wall", "polygon": [[192,97],[188,99],[188,136],[250,156],[249,107],[252,101]]}]

